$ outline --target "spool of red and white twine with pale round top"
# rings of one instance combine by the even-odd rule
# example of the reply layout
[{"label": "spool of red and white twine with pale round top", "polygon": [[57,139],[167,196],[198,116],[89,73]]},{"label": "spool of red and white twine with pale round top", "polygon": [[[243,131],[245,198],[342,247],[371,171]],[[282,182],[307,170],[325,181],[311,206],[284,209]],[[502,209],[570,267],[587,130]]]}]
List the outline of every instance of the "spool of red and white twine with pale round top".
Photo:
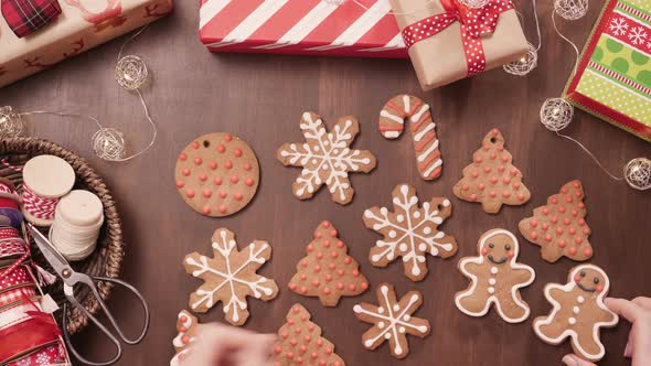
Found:
[{"label": "spool of red and white twine with pale round top", "polygon": [[65,160],[54,155],[30,159],[23,168],[22,213],[36,226],[50,226],[60,198],[75,184],[75,172]]}]

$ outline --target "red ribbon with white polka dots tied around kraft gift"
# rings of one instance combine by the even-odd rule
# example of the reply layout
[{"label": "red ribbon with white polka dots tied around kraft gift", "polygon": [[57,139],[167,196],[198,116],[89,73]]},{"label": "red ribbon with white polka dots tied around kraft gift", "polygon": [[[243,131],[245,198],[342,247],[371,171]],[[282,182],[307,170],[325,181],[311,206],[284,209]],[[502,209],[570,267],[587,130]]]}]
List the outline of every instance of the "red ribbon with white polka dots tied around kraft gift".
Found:
[{"label": "red ribbon with white polka dots tied around kraft gift", "polygon": [[461,23],[461,41],[468,64],[468,76],[474,76],[485,69],[485,55],[481,37],[492,34],[498,25],[500,14],[513,9],[511,0],[491,0],[487,6],[471,9],[455,0],[441,0],[445,12],[423,19],[403,30],[403,39],[407,49],[427,40],[459,21]]}]

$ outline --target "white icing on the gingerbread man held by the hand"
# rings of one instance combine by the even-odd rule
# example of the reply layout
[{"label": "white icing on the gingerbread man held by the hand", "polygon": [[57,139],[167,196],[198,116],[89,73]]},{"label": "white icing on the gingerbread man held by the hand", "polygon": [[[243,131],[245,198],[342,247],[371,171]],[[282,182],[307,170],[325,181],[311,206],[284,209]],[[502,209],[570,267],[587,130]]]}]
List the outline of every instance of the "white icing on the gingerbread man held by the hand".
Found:
[{"label": "white icing on the gingerbread man held by the hand", "polygon": [[[604,290],[597,294],[595,302],[597,303],[599,309],[601,309],[602,311],[612,315],[612,321],[610,321],[610,322],[596,322],[593,325],[593,342],[595,342],[595,344],[597,344],[599,346],[599,352],[596,354],[590,354],[590,353],[586,352],[586,349],[580,345],[580,343],[578,343],[578,334],[573,329],[565,330],[565,332],[563,332],[561,335],[558,335],[557,337],[554,337],[554,338],[548,337],[541,332],[541,327],[543,325],[551,324],[554,321],[554,319],[556,317],[556,315],[558,314],[558,312],[561,311],[561,303],[552,297],[552,294],[551,294],[552,290],[561,290],[563,292],[568,293],[576,288],[576,282],[574,282],[574,280],[570,280],[566,284],[551,283],[545,287],[545,298],[547,299],[547,301],[549,303],[552,303],[552,305],[554,308],[552,309],[552,312],[549,313],[549,315],[544,316],[544,319],[541,319],[541,320],[534,322],[533,325],[534,325],[534,332],[536,333],[536,335],[541,340],[543,340],[547,343],[551,343],[551,344],[559,344],[561,342],[563,342],[563,340],[565,340],[566,337],[569,336],[572,338],[573,346],[575,346],[576,349],[580,354],[583,354],[583,356],[585,356],[589,360],[597,362],[597,360],[601,359],[604,357],[604,355],[606,354],[606,348],[604,347],[604,344],[601,344],[601,341],[599,340],[599,329],[601,326],[613,326],[615,324],[617,324],[619,322],[619,316],[617,316],[616,313],[610,311],[606,306],[606,304],[604,304],[604,298],[606,297],[606,294],[608,293],[608,289],[610,288],[610,280],[608,279],[608,276],[606,274],[606,272],[604,272],[604,270],[601,268],[594,266],[594,265],[577,266],[569,273],[568,278],[574,279],[579,271],[586,270],[586,269],[595,270],[598,273],[600,273],[601,277],[604,278],[604,282],[605,282]],[[586,299],[581,295],[579,295],[577,298],[578,303],[583,303],[585,301],[586,301]]]}]

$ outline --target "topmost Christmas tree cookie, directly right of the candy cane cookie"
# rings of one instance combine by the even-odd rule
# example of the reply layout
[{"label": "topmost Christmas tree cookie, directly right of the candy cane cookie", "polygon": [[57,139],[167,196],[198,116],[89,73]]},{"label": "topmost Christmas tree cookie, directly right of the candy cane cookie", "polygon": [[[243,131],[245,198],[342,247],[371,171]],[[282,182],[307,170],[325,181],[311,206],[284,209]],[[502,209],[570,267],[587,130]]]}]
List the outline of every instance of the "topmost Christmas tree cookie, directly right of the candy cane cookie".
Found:
[{"label": "topmost Christmas tree cookie, directly right of the candy cane cookie", "polygon": [[495,214],[502,205],[523,205],[531,193],[522,183],[522,173],[512,164],[513,157],[504,149],[504,138],[492,129],[482,148],[472,154],[472,164],[463,168],[463,177],[452,189],[463,201],[480,202],[483,211]]}]

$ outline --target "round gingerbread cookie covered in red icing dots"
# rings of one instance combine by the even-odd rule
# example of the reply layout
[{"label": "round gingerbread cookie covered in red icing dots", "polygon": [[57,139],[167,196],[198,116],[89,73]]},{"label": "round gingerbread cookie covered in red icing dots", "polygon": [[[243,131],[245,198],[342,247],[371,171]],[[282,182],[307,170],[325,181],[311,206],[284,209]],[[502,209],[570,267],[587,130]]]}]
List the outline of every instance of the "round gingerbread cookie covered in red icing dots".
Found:
[{"label": "round gingerbread cookie covered in red icing dots", "polygon": [[177,160],[177,189],[185,203],[206,216],[233,215],[255,195],[260,168],[250,147],[231,133],[196,138]]}]

